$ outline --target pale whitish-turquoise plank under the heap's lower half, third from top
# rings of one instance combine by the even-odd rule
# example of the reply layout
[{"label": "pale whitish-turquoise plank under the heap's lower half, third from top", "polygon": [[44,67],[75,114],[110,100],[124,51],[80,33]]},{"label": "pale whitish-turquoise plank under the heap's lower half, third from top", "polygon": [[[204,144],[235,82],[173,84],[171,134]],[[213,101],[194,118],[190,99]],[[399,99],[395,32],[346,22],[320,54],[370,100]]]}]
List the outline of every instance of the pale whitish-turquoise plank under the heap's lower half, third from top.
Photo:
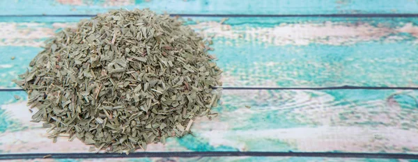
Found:
[{"label": "pale whitish-turquoise plank under the heap's lower half, third from top", "polygon": [[[224,90],[219,116],[194,122],[194,136],[169,138],[147,151],[418,153],[418,91]],[[246,108],[251,106],[251,108]],[[29,122],[24,102],[1,106],[15,126],[0,133],[3,154],[87,152],[79,140],[52,143]],[[10,131],[14,130],[14,131]]]}]

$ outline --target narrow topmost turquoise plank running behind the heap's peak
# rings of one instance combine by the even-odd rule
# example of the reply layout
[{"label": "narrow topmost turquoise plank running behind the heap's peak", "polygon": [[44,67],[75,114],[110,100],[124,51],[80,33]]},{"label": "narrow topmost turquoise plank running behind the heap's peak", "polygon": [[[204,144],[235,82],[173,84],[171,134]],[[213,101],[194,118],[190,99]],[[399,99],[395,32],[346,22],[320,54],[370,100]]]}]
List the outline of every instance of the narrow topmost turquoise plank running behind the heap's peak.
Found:
[{"label": "narrow topmost turquoise plank running behind the heap's peak", "polygon": [[118,8],[150,8],[158,13],[183,14],[249,14],[304,15],[356,13],[417,13],[414,0],[203,0],[203,1],[146,1],[146,0],[26,0],[1,1],[0,15],[84,15],[104,13]]}]

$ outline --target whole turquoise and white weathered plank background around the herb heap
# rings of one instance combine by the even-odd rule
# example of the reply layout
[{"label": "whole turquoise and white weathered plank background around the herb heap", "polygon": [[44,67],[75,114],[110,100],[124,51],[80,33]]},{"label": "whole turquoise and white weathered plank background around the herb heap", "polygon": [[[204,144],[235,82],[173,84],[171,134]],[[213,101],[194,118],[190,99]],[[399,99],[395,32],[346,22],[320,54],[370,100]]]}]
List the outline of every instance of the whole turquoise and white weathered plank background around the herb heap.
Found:
[{"label": "whole turquoise and white weathered plank background around the herb heap", "polygon": [[[55,31],[117,8],[150,8],[191,18],[187,25],[192,29],[214,36],[212,54],[224,70],[224,86],[231,88],[223,91],[222,106],[214,108],[217,118],[194,122],[194,136],[149,145],[148,152],[418,154],[417,90],[274,89],[418,87],[416,0],[12,0],[0,1],[1,155],[88,152],[79,140],[52,143],[42,124],[29,122],[26,93],[2,89],[16,88],[11,80],[26,70],[42,41]],[[107,160],[406,161],[251,156]]]}]

